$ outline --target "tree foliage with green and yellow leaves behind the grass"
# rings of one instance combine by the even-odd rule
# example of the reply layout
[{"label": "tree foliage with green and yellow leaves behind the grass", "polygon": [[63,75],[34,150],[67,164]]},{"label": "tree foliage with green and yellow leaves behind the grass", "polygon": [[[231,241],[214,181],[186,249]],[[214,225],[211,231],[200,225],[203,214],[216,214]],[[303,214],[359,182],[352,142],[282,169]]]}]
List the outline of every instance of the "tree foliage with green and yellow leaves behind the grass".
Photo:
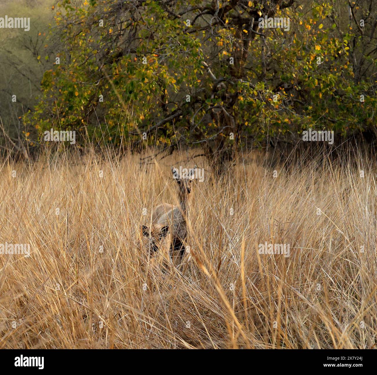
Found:
[{"label": "tree foliage with green and yellow leaves behind the grass", "polygon": [[[246,139],[296,143],[310,127],[376,136],[373,0],[300,3],[60,0],[51,33],[64,48],[35,126],[81,142],[200,145],[221,160]],[[259,28],[265,16],[289,30]]]}]

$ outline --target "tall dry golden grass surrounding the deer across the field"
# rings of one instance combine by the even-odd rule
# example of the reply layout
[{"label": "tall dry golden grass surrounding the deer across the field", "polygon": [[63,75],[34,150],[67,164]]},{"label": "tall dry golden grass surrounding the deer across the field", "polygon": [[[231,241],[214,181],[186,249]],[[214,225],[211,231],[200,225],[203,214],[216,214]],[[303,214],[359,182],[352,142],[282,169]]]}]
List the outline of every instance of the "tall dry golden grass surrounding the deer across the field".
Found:
[{"label": "tall dry golden grass surrounding the deer across the field", "polygon": [[[29,243],[31,256],[0,255],[0,347],[374,347],[374,165],[323,160],[290,171],[238,161],[223,181],[178,154],[5,162],[0,243]],[[195,163],[206,169],[191,254],[181,269],[150,267],[139,228],[154,205],[176,203],[170,166]],[[290,256],[259,254],[266,241]]]}]

